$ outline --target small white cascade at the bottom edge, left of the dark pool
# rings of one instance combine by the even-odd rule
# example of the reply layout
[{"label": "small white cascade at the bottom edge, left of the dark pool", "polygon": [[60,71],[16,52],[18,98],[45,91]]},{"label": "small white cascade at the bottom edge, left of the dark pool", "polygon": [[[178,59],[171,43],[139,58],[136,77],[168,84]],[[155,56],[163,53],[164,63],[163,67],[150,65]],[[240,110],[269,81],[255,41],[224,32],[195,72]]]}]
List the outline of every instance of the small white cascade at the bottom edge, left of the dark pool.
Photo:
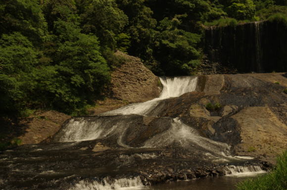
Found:
[{"label": "small white cascade at the bottom edge, left of the dark pool", "polygon": [[144,187],[142,180],[140,177],[136,178],[122,178],[110,181],[108,178],[102,180],[102,182],[87,182],[80,181],[74,187],[69,190],[140,190]]}]

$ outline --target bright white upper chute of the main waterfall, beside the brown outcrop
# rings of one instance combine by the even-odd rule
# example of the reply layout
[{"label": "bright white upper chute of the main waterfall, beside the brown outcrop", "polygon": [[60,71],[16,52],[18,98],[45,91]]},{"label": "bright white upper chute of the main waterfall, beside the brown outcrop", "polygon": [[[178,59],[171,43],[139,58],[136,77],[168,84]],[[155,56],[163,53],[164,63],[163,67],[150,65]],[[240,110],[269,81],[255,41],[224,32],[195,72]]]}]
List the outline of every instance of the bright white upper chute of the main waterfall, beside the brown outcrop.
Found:
[{"label": "bright white upper chute of the main waterfall, beside the brown outcrop", "polygon": [[197,77],[160,78],[160,82],[163,86],[163,89],[158,98],[154,98],[143,103],[129,104],[119,109],[102,113],[100,115],[146,115],[151,110],[153,110],[153,108],[155,108],[159,101],[162,99],[178,97],[185,93],[195,91],[197,85]]}]

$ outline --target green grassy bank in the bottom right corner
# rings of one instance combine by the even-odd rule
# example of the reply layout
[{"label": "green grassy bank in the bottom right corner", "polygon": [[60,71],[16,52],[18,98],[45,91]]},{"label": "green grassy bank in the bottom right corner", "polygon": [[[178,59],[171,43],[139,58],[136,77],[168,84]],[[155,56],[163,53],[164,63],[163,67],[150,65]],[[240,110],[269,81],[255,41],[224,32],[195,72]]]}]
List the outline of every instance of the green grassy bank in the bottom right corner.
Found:
[{"label": "green grassy bank in the bottom right corner", "polygon": [[287,151],[277,159],[273,171],[239,183],[238,190],[287,190]]}]

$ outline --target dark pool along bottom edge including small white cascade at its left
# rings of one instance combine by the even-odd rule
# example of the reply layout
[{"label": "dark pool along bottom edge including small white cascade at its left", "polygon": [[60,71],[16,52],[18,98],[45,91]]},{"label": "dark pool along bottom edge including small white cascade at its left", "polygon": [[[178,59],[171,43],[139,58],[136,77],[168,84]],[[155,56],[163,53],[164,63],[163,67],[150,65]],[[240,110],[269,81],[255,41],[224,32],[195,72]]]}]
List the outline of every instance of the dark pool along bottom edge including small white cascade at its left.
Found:
[{"label": "dark pool along bottom edge including small white cascade at its left", "polygon": [[104,183],[94,182],[92,184],[82,181],[70,190],[236,190],[239,182],[255,178],[258,174],[246,173],[245,175],[183,180],[152,186],[144,186],[140,178],[119,179],[112,184],[109,184],[108,180],[104,180]]}]

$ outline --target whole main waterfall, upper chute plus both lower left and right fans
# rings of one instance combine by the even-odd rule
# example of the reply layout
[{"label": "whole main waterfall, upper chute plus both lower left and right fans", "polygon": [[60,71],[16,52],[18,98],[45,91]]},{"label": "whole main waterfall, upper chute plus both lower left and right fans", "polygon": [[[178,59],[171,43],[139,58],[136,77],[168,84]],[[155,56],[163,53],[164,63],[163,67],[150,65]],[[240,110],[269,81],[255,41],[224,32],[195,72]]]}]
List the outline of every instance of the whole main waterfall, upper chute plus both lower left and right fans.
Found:
[{"label": "whole main waterfall, upper chute plus both lower left and right fans", "polygon": [[[158,98],[143,103],[129,104],[95,116],[93,119],[73,118],[58,134],[58,142],[117,139],[117,143],[123,147],[134,147],[127,144],[124,137],[139,123],[140,118],[150,113],[161,100],[193,92],[197,85],[197,77],[160,78],[160,81],[163,90]],[[131,114],[141,117],[130,116]],[[167,130],[146,139],[139,147],[158,148],[177,143],[187,150],[197,147],[217,156],[230,156],[230,146],[226,143],[201,137],[195,129],[182,123],[179,118],[163,119],[168,125]]]}]

